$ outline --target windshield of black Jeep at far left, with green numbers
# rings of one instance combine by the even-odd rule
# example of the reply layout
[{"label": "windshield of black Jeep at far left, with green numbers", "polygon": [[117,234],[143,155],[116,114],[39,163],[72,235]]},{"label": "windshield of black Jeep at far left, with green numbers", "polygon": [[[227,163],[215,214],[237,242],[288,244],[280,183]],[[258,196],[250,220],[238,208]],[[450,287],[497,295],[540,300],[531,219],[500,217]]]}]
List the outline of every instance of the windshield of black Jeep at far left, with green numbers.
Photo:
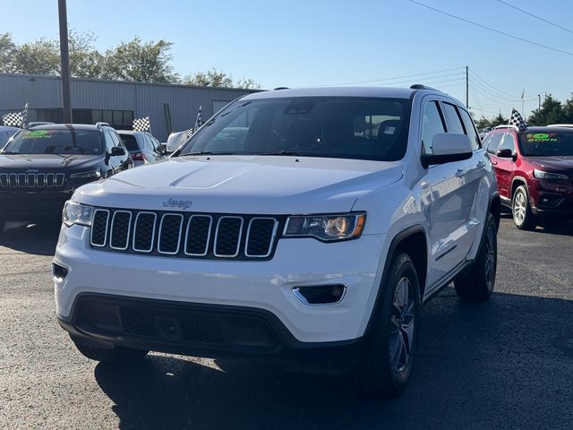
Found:
[{"label": "windshield of black Jeep at far left, with green numbers", "polygon": [[102,154],[101,133],[91,130],[24,130],[4,147],[8,154]]}]

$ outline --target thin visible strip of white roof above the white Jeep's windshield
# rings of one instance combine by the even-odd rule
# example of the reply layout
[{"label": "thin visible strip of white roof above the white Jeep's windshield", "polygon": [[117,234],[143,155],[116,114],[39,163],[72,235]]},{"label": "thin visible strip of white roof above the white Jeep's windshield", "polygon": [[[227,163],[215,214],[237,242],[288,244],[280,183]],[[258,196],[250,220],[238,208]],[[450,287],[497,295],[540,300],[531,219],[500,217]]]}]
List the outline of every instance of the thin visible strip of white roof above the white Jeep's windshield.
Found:
[{"label": "thin visible strip of white roof above the white Jeep's windshield", "polygon": [[[410,88],[388,87],[320,87],[261,91],[248,94],[242,100],[282,99],[291,97],[374,97],[409,99],[417,91]],[[438,90],[432,90],[438,92]]]}]

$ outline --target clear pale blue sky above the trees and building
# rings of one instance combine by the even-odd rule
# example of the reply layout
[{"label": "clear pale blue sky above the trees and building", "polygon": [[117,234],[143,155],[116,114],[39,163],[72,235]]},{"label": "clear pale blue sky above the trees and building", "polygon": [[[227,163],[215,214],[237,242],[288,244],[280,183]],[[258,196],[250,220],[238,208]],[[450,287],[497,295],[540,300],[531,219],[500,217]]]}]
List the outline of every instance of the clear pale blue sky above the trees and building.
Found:
[{"label": "clear pale blue sky above the trees and building", "polygon": [[[408,0],[262,1],[68,0],[68,22],[92,31],[105,50],[138,35],[174,43],[175,71],[211,67],[251,78],[263,88],[363,82],[407,86],[422,82],[466,99],[478,116],[511,107],[525,113],[545,91],[569,99],[573,91],[573,2],[418,0],[466,20],[570,55],[510,39],[433,12]],[[58,37],[57,0],[2,0],[1,32],[17,42]],[[444,71],[444,72],[439,72]],[[415,75],[415,76],[412,76]],[[403,78],[406,76],[405,78]],[[398,79],[390,79],[398,77]]]}]

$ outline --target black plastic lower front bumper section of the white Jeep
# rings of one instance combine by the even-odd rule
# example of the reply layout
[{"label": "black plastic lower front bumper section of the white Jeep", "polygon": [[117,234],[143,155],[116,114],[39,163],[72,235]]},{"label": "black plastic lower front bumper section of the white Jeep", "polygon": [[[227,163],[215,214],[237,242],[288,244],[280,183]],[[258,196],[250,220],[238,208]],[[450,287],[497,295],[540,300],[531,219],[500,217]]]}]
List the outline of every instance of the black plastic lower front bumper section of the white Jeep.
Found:
[{"label": "black plastic lower front bumper section of the white Jeep", "polygon": [[80,295],[71,317],[59,323],[76,343],[95,348],[255,358],[313,373],[349,370],[362,346],[362,339],[300,342],[261,309],[108,295]]}]

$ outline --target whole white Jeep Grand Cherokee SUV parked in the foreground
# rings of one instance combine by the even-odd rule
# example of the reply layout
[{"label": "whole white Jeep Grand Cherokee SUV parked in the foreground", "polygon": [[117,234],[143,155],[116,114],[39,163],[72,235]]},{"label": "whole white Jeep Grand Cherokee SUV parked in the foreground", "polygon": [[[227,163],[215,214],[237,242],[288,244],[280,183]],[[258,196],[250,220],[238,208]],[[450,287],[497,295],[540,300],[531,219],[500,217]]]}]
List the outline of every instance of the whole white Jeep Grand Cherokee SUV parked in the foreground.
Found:
[{"label": "whole white Jeep Grand Cherokee SUV parked in the foreground", "polygon": [[81,353],[262,357],[406,388],[420,305],[492,294],[500,199],[461,103],[410,89],[237,99],[173,157],[67,202],[56,312]]}]

